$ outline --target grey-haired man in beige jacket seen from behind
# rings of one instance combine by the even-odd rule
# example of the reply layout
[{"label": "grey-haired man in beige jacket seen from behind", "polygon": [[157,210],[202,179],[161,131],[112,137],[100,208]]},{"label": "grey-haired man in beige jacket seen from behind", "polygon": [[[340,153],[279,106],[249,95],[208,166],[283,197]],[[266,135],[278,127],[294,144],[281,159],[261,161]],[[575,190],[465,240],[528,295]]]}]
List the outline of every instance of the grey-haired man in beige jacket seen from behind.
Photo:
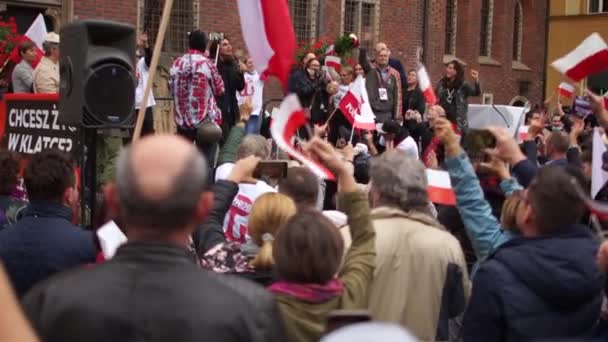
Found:
[{"label": "grey-haired man in beige jacket seen from behind", "polygon": [[[422,341],[447,341],[470,294],[462,248],[432,215],[424,166],[400,151],[372,161],[376,268],[369,309]],[[348,229],[342,229],[350,244]],[[454,333],[454,331],[452,331]]]}]

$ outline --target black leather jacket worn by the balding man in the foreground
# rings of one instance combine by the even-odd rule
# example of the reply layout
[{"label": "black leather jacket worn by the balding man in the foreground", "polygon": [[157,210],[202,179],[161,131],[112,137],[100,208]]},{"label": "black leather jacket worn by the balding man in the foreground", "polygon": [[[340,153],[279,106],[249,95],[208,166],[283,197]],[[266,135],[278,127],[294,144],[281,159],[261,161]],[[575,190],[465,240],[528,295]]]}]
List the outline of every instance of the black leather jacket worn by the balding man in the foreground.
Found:
[{"label": "black leather jacket worn by the balding man in the foreground", "polygon": [[23,306],[43,341],[284,341],[276,303],[198,268],[184,248],[130,242],[109,262],[44,282]]}]

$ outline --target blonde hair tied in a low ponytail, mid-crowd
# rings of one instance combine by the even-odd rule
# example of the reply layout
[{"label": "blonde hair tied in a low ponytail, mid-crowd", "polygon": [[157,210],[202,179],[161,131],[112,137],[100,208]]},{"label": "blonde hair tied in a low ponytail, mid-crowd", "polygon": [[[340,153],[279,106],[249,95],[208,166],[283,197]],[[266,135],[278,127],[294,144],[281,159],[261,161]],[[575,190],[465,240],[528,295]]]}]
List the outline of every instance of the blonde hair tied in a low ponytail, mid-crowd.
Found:
[{"label": "blonde hair tied in a low ponytail, mid-crowd", "polygon": [[285,223],[297,212],[295,202],[280,193],[266,193],[258,197],[251,207],[247,230],[253,241],[260,246],[251,261],[256,269],[274,267],[272,242]]}]

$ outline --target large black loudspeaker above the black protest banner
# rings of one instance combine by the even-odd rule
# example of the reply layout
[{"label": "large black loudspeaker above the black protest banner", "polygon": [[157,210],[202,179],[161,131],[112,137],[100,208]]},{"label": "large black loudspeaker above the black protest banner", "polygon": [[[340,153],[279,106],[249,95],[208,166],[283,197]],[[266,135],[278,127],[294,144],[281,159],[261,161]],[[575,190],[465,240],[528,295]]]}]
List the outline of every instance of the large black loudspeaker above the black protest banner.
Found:
[{"label": "large black loudspeaker above the black protest banner", "polygon": [[58,121],[83,127],[132,127],[135,29],[101,20],[63,27]]}]

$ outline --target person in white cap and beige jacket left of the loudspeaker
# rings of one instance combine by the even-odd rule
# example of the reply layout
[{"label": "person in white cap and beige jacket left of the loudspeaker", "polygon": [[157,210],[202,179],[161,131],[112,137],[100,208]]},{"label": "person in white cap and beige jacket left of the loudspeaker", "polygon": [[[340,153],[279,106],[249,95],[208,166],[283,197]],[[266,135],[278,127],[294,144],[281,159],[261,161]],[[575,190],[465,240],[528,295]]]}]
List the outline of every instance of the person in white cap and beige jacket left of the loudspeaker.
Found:
[{"label": "person in white cap and beige jacket left of the loudspeaker", "polygon": [[59,93],[59,35],[47,33],[42,48],[44,57],[34,70],[34,92]]}]

